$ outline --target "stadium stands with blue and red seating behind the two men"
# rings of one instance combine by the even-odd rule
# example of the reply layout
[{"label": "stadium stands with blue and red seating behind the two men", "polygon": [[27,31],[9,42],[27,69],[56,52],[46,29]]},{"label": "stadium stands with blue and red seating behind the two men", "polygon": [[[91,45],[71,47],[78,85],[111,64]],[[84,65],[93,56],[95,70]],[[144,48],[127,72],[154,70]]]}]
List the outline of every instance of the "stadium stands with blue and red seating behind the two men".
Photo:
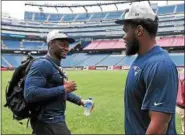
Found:
[{"label": "stadium stands with blue and red seating behind the two men", "polygon": [[[103,11],[104,6],[128,2],[87,5],[51,5],[26,3],[40,12],[24,12],[24,20],[2,16],[1,69],[14,69],[30,52],[39,57],[47,52],[46,35],[59,29],[75,39],[70,53],[61,65],[68,70],[118,70],[128,69],[136,55],[125,55],[124,32],[115,20],[124,18],[125,10]],[[88,7],[98,6],[101,12],[88,12]],[[184,67],[184,3],[176,5],[151,5],[159,16],[157,44],[169,52],[177,67]],[[71,13],[44,13],[43,7],[69,8]],[[82,7],[84,13],[74,13]]]}]

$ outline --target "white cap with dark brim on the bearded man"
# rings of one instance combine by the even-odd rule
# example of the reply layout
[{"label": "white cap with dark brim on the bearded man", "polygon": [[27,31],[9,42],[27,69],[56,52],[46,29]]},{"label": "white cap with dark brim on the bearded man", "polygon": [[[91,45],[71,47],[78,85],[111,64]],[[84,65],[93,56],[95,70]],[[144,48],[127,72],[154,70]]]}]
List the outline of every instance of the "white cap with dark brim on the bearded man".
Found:
[{"label": "white cap with dark brim on the bearded man", "polygon": [[131,19],[151,19],[155,21],[156,14],[150,7],[148,2],[133,3],[128,12],[125,13],[125,18],[115,21],[116,24],[123,24],[126,20]]}]

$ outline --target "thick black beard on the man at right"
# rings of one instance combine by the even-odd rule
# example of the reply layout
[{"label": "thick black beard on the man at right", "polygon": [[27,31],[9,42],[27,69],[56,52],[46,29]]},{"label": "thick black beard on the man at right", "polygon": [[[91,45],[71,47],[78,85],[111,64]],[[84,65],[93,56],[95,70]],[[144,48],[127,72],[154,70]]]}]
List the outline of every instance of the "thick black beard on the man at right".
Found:
[{"label": "thick black beard on the man at right", "polygon": [[139,52],[139,41],[134,36],[132,40],[127,42],[126,55],[131,56]]}]

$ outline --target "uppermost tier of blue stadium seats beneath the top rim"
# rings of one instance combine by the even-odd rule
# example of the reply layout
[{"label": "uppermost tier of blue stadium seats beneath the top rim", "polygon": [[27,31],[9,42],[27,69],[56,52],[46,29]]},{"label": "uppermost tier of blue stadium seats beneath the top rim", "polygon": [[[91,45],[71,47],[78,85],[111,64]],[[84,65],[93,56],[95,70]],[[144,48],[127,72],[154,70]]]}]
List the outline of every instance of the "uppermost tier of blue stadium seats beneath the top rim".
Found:
[{"label": "uppermost tier of blue stadium seats beneath the top rim", "polygon": [[[173,13],[183,13],[184,4],[162,6],[153,8],[154,12],[158,15],[167,15]],[[96,20],[109,20],[119,19],[123,16],[124,11],[113,12],[97,12],[97,13],[82,13],[82,14],[52,14],[52,13],[37,13],[25,12],[24,18],[27,21],[49,21],[49,22],[71,22],[71,21],[96,21]]]}]

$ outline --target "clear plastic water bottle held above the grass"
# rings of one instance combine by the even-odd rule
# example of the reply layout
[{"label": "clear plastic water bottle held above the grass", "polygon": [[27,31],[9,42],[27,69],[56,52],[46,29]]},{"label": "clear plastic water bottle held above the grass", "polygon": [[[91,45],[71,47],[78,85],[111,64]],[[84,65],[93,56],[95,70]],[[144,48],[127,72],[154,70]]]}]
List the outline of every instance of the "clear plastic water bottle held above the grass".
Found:
[{"label": "clear plastic water bottle held above the grass", "polygon": [[87,100],[85,100],[85,105],[84,105],[85,116],[89,116],[91,114],[92,106],[93,106],[92,98],[88,98]]}]

